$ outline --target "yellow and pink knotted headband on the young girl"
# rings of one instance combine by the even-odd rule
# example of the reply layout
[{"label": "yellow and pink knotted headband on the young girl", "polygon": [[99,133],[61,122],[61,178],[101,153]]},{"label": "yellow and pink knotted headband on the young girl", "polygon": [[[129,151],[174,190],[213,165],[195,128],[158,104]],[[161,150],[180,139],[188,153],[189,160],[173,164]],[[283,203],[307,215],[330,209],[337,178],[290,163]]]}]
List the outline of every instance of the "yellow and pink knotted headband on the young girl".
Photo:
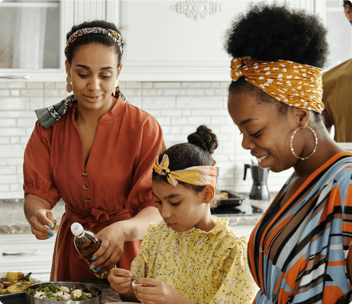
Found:
[{"label": "yellow and pink knotted headband on the young girl", "polygon": [[159,165],[158,159],[156,159],[153,169],[159,175],[166,175],[168,182],[174,187],[178,184],[177,179],[192,185],[206,186],[211,184],[214,187],[218,185],[219,168],[216,167],[216,164],[170,171],[169,157],[164,154],[161,164]]}]

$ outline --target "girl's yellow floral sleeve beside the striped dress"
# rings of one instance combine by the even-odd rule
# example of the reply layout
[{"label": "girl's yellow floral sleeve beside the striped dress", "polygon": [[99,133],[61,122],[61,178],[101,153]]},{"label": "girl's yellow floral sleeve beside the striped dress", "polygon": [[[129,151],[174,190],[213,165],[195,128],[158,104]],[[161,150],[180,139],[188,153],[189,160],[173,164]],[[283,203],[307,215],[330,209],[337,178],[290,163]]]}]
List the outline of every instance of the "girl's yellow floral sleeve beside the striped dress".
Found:
[{"label": "girl's yellow floral sleeve beside the striped dress", "polygon": [[218,278],[219,290],[209,304],[253,302],[258,287],[248,266],[245,241],[235,242],[235,246],[219,265]]}]

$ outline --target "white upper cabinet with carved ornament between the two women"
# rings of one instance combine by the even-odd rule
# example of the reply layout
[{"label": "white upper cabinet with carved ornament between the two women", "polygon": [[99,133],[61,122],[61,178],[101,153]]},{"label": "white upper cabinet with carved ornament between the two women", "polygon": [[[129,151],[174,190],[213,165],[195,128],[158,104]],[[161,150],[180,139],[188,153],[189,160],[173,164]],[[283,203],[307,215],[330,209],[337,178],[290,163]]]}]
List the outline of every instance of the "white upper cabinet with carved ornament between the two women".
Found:
[{"label": "white upper cabinet with carved ornament between the two women", "polygon": [[[258,1],[114,2],[107,1],[107,11],[115,13],[115,23],[120,21],[126,42],[121,80],[229,81],[231,58],[223,49],[222,37],[233,17],[245,11],[250,2]],[[325,3],[285,2],[320,13]]]}]

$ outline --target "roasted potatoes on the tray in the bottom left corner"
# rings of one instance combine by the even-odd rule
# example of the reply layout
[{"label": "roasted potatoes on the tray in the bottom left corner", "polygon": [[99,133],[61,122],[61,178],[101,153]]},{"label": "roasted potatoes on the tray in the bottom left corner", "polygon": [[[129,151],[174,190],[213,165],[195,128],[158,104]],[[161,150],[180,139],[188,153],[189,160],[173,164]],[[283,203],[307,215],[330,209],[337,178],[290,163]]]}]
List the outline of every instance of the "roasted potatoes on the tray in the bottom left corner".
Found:
[{"label": "roasted potatoes on the tray in the bottom left corner", "polygon": [[0,295],[7,293],[16,293],[25,291],[25,289],[37,284],[37,281],[31,280],[31,272],[24,276],[23,272],[8,272],[6,278],[0,279]]}]

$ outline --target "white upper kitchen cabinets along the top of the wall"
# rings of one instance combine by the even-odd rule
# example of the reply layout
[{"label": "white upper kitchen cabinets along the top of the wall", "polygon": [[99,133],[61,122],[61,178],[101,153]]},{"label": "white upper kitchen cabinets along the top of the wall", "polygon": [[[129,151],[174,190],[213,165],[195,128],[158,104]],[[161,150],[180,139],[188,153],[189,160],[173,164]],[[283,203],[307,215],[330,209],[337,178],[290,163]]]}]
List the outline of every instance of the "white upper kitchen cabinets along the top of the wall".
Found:
[{"label": "white upper kitchen cabinets along the top of the wall", "polygon": [[[59,67],[0,67],[0,77],[29,76],[29,81],[65,80],[63,51],[66,33],[73,24],[103,19],[122,26],[122,37],[126,41],[122,59],[123,81],[228,81],[231,58],[223,49],[222,37],[233,17],[243,12],[250,2],[258,1],[61,0]],[[1,2],[0,10],[4,2],[6,0]],[[325,20],[326,1],[286,0],[285,3],[319,13]]]}]

